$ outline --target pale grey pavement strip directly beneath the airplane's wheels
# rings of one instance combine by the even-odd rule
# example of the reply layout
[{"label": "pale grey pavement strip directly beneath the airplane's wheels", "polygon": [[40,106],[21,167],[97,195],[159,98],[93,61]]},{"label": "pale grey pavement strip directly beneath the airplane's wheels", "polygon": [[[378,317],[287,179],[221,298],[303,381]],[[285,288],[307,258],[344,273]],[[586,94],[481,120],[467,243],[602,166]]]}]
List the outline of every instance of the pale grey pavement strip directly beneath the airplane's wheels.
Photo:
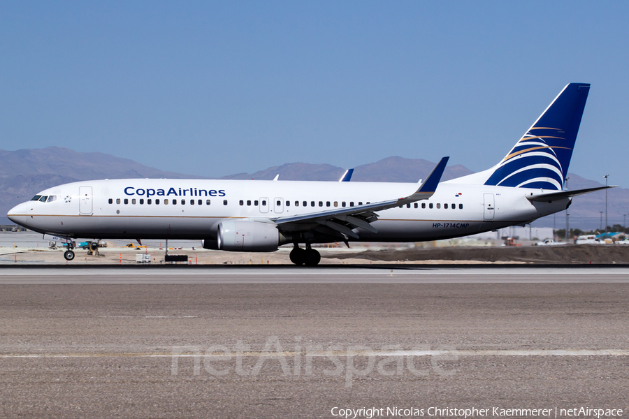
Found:
[{"label": "pale grey pavement strip directly beneath the airplane's wheels", "polygon": [[0,284],[570,284],[629,283],[629,266],[479,265],[20,266]]}]

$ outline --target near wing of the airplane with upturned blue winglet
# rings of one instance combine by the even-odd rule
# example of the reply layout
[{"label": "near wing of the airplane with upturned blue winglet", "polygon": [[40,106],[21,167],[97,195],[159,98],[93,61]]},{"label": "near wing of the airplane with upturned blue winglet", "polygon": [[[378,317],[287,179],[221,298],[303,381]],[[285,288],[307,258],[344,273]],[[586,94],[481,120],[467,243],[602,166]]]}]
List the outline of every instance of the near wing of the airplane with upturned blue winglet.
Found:
[{"label": "near wing of the airplane with upturned blue winglet", "polygon": [[[371,222],[378,219],[375,211],[400,207],[433,196],[433,193],[437,190],[448,159],[449,157],[441,159],[431,174],[421,183],[417,191],[405,198],[368,203],[355,207],[340,207],[333,210],[312,212],[310,214],[280,216],[270,220],[285,231],[317,230],[319,233],[327,235],[345,235],[353,237],[354,239],[358,239],[359,235],[356,234],[352,228],[363,228],[372,233],[377,233],[377,230],[370,225]],[[343,238],[345,239],[345,237]]]}]

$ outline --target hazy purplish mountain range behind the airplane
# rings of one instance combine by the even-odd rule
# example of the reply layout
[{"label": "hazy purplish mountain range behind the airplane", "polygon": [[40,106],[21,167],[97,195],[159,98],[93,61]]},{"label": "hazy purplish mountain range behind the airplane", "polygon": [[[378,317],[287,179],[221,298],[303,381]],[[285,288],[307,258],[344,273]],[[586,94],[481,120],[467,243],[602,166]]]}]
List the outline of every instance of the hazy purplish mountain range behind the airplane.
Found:
[{"label": "hazy purplish mountain range behind the airplane", "polygon": [[[435,163],[424,159],[392,156],[356,166],[352,182],[417,182],[434,167]],[[344,168],[329,164],[287,163],[254,173],[226,175],[221,179],[273,179],[275,175],[280,175],[280,181],[337,181],[343,172]],[[470,173],[471,170],[461,165],[448,166],[442,179],[455,179]],[[3,214],[0,223],[10,223],[4,216],[10,208],[50,186],[82,180],[120,178],[212,179],[150,168],[110,154],[80,153],[62,147],[14,152],[0,150],[0,214]],[[601,186],[599,182],[574,173],[570,173],[568,178],[570,189]],[[607,193],[608,224],[622,224],[623,214],[629,212],[629,189],[610,189]],[[568,211],[570,227],[582,230],[599,228],[601,211],[605,221],[605,191],[577,196]],[[553,223],[553,216],[534,222],[535,226],[553,226]],[[565,212],[556,215],[556,228],[565,228]]]}]

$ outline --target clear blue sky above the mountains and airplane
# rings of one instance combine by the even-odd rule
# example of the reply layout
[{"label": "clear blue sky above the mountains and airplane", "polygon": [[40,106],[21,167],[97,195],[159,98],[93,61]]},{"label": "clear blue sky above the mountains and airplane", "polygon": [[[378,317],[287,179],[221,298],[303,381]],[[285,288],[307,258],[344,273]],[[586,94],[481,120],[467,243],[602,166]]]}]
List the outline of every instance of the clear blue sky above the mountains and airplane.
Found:
[{"label": "clear blue sky above the mountains and airplane", "polygon": [[0,4],[0,148],[221,176],[388,156],[484,170],[568,82],[570,171],[629,186],[629,2]]}]

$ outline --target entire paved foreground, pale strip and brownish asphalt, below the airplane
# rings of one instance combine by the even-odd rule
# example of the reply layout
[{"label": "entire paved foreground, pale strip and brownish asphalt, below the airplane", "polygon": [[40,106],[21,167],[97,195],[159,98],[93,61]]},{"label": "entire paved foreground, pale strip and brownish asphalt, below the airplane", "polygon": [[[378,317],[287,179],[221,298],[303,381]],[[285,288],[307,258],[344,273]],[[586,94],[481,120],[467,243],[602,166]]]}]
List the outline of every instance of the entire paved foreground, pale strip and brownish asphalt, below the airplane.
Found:
[{"label": "entire paved foreground, pale strip and brownish asphalt, below the airplane", "polygon": [[626,267],[3,268],[0,417],[626,416],[628,297]]}]

